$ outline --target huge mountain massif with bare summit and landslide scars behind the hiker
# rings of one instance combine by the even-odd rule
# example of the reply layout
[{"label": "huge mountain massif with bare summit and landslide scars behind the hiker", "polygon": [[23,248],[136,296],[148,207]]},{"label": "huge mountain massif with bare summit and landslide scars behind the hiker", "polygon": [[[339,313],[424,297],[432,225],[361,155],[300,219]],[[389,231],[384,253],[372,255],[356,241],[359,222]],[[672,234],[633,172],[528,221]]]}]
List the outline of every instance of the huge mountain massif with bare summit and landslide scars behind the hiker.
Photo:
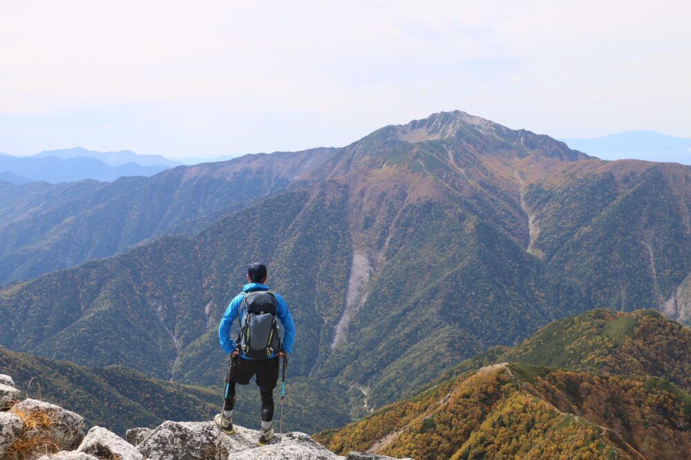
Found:
[{"label": "huge mountain massif with bare summit and landslide scars behind the hiker", "polygon": [[218,320],[264,260],[299,325],[291,377],[349,388],[362,414],[596,307],[689,323],[690,211],[689,166],[459,111],[343,148],[5,184],[0,345],[218,385]]}]

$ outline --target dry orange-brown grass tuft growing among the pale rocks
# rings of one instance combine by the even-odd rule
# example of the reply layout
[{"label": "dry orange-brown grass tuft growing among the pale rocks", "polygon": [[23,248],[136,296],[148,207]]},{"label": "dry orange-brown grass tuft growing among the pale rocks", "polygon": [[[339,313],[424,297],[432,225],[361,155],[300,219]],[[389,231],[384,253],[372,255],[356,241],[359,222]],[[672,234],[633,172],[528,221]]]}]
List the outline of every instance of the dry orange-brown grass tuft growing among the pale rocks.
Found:
[{"label": "dry orange-brown grass tuft growing among the pale rocks", "polygon": [[8,459],[28,459],[37,453],[50,454],[59,450],[58,446],[46,437],[45,433],[53,427],[53,415],[43,410],[21,410],[12,406],[12,413],[23,422],[21,436],[8,446]]}]

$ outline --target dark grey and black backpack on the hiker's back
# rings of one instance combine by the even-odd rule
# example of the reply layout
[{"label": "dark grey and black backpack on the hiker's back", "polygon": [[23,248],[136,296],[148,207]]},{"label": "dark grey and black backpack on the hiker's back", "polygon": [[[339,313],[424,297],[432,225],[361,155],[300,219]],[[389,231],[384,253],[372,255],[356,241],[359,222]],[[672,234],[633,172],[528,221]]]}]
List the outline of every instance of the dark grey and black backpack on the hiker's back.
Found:
[{"label": "dark grey and black backpack on the hiker's back", "polygon": [[236,343],[240,352],[252,359],[266,359],[273,352],[281,349],[281,338],[278,336],[276,309],[278,302],[272,291],[252,291],[245,294],[240,304],[240,316],[243,307],[245,316],[240,323],[240,332]]}]

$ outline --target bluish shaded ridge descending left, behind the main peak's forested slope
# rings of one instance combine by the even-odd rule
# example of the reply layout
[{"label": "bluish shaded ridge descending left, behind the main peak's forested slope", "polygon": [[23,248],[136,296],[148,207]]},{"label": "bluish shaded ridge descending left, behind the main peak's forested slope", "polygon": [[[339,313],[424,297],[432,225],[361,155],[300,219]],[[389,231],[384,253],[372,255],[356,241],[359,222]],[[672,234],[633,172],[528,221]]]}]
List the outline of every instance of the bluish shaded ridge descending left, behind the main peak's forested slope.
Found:
[{"label": "bluish shaded ridge descending left, behind the main peak's forested slope", "polygon": [[285,189],[334,152],[245,155],[113,182],[3,182],[0,284],[112,256],[151,236],[194,233],[245,202]]}]

